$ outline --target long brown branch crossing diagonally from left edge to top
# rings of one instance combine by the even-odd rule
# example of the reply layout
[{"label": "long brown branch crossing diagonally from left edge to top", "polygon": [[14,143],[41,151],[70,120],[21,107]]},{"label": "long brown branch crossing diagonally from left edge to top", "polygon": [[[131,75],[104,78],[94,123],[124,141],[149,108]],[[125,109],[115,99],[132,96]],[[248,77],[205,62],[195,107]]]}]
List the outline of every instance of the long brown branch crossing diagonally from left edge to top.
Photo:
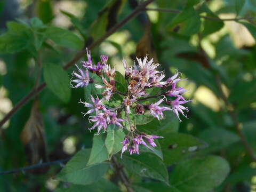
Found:
[{"label": "long brown branch crossing diagonally from left edge to top", "polygon": [[[107,31],[107,33],[105,35],[103,35],[101,38],[99,38],[97,41],[95,41],[94,43],[92,43],[88,48],[89,49],[93,49],[95,46],[99,45],[100,43],[102,43],[106,38],[108,38],[110,35],[112,35],[113,33],[115,33],[115,31],[117,31],[119,28],[123,27],[128,21],[130,21],[132,18],[134,18],[139,12],[143,11],[145,9],[145,7],[150,4],[151,2],[153,2],[154,0],[148,0],[146,2],[141,3],[137,9],[135,9],[132,13],[130,13],[123,21],[121,21],[120,23],[117,23],[114,27],[112,27],[111,29],[109,29]],[[79,59],[81,59],[84,55],[86,54],[86,49],[83,49],[82,51],[80,51],[79,53],[77,53],[75,55],[75,57],[69,61],[67,63],[67,65],[65,65],[63,67],[63,69],[67,70],[69,67],[71,67],[72,65],[74,65]],[[40,86],[38,86],[36,89],[30,91],[26,97],[24,97],[22,100],[20,100],[17,105],[15,105],[11,111],[9,111],[9,113],[7,113],[5,115],[5,117],[2,119],[2,121],[0,122],[0,129],[1,127],[4,125],[4,123],[6,121],[8,121],[8,119],[10,119],[12,117],[12,115],[14,115],[19,108],[21,108],[23,105],[25,105],[26,102],[28,102],[31,98],[33,98],[38,92],[42,91],[44,89],[44,87],[46,86],[45,83],[42,83]]]}]

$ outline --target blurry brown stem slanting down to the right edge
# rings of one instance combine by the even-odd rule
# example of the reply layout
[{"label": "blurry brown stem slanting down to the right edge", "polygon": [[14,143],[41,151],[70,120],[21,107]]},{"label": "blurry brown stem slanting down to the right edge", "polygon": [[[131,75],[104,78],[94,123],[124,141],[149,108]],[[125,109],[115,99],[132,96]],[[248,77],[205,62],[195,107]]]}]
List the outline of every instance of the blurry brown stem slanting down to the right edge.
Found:
[{"label": "blurry brown stem slanting down to the right edge", "polygon": [[243,145],[245,147],[245,150],[247,151],[247,154],[251,157],[252,161],[256,162],[256,156],[254,154],[254,151],[253,151],[252,147],[250,146],[250,144],[248,143],[248,141],[245,138],[245,135],[242,132],[242,126],[238,121],[237,114],[236,114],[236,111],[234,109],[234,106],[232,105],[232,103],[229,102],[228,98],[226,97],[226,95],[224,94],[224,92],[221,88],[221,79],[220,79],[219,75],[217,75],[215,77],[215,82],[217,83],[217,87],[219,89],[220,96],[221,96],[221,98],[223,99],[223,101],[225,103],[225,106],[227,108],[227,111],[228,111],[229,115],[232,118],[232,121],[235,125],[236,131],[239,135],[239,138],[241,139],[241,142],[243,143]]}]

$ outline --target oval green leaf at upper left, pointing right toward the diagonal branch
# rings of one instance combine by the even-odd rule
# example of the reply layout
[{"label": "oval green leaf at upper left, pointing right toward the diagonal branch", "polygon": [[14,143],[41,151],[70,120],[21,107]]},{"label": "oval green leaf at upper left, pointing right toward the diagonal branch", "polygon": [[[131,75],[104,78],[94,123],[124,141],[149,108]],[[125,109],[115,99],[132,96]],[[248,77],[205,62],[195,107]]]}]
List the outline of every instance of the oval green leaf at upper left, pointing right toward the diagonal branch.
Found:
[{"label": "oval green leaf at upper left, pointing right toward the diagonal branch", "polygon": [[76,34],[71,31],[59,27],[50,26],[45,31],[46,37],[60,46],[69,47],[72,49],[82,49],[84,42]]}]

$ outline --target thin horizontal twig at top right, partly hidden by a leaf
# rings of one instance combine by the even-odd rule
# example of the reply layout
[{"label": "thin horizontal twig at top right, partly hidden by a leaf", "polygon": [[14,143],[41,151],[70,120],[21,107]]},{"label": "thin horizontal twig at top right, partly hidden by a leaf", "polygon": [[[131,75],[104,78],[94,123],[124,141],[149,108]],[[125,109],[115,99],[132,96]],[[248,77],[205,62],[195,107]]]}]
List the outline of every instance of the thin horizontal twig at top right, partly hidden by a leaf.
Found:
[{"label": "thin horizontal twig at top right, partly hidden by a leaf", "polygon": [[[145,8],[145,11],[159,11],[159,12],[166,12],[166,13],[180,13],[181,10],[176,9],[154,9],[154,8]],[[244,18],[228,18],[228,19],[220,19],[220,18],[214,18],[214,17],[208,17],[200,15],[201,18],[212,20],[212,21],[239,21],[239,20],[250,20],[254,19],[256,17],[244,17]]]}]

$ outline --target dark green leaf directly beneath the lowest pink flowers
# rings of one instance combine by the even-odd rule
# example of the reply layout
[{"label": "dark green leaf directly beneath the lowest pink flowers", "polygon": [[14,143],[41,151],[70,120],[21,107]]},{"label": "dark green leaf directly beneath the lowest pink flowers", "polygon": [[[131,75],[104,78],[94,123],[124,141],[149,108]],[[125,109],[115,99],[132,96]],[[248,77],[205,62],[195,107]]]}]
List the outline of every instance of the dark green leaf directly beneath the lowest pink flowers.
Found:
[{"label": "dark green leaf directly beneath the lowest pink flowers", "polygon": [[160,158],[150,153],[141,153],[140,155],[123,155],[121,162],[125,168],[141,177],[148,177],[168,182],[168,173],[166,166]]}]

